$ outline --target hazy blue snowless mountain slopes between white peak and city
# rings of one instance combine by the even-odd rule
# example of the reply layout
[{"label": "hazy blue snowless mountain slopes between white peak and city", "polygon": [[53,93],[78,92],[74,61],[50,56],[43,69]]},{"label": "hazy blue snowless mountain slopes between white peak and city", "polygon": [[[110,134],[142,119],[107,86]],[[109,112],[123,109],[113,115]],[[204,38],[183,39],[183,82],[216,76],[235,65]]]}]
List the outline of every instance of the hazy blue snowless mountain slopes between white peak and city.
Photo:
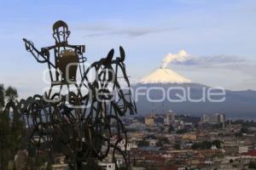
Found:
[{"label": "hazy blue snowless mountain slopes between white peak and city", "polygon": [[[137,90],[137,113],[149,114],[166,113],[172,110],[178,114],[190,114],[201,116],[202,114],[224,113],[226,116],[233,118],[251,118],[256,119],[256,91],[230,91],[225,90],[224,96],[212,96],[212,99],[222,99],[223,102],[206,101],[191,102],[190,99],[201,99],[204,93],[210,89],[198,83],[139,83],[132,86],[134,91]],[[160,90],[161,88],[161,90]],[[169,89],[169,93],[168,92]],[[163,94],[165,91],[165,94]],[[220,90],[212,90],[220,92]],[[143,94],[144,93],[144,94]],[[148,94],[147,94],[148,93]],[[166,95],[162,102],[149,101],[149,99],[161,99]],[[167,98],[168,96],[168,98]],[[170,99],[183,99],[182,102],[170,101]]]}]

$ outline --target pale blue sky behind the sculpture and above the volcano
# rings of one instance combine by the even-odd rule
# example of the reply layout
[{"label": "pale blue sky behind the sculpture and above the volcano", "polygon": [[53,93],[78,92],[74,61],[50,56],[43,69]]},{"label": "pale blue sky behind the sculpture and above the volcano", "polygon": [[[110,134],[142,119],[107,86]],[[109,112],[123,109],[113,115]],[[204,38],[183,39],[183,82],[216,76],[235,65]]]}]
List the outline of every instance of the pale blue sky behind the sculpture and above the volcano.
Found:
[{"label": "pale blue sky behind the sculpture and above the volcano", "polygon": [[22,38],[54,44],[52,25],[64,20],[69,43],[85,44],[88,62],[125,48],[135,80],[159,68],[167,54],[191,56],[167,67],[192,80],[231,90],[256,90],[255,0],[2,0],[0,83],[20,96],[42,94],[45,64],[26,52]]}]

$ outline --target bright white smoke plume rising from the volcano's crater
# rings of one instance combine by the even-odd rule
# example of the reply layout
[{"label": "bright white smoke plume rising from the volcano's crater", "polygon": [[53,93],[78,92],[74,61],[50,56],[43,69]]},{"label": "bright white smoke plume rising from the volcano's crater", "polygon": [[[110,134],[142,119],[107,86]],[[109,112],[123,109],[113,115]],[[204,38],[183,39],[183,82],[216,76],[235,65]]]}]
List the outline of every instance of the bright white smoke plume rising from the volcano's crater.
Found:
[{"label": "bright white smoke plume rising from the volcano's crater", "polygon": [[190,55],[185,50],[180,50],[177,54],[167,54],[162,60],[161,68],[165,69],[173,61],[183,62],[190,59]]}]

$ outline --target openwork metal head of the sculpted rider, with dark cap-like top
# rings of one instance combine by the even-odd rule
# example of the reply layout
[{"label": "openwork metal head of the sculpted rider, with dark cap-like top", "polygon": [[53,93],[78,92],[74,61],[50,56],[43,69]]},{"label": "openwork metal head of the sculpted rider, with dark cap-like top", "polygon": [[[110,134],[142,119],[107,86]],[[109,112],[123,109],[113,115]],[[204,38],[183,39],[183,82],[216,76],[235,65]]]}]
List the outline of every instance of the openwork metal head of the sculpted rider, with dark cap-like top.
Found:
[{"label": "openwork metal head of the sculpted rider, with dark cap-like top", "polygon": [[52,29],[53,29],[53,37],[55,38],[56,44],[62,43],[62,42],[67,43],[67,38],[70,35],[70,31],[68,31],[68,26],[66,22],[62,20],[58,20],[55,22]]}]

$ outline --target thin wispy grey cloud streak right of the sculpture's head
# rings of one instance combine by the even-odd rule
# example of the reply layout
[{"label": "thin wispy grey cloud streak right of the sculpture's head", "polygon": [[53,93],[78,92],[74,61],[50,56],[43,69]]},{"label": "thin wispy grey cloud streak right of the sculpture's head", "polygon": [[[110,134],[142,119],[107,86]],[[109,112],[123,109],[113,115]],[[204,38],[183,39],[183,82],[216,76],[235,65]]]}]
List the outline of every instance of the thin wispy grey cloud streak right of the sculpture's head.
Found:
[{"label": "thin wispy grey cloud streak right of the sculpture's head", "polygon": [[85,37],[104,37],[109,35],[123,35],[128,37],[140,37],[152,33],[159,33],[164,31],[176,31],[177,27],[154,28],[154,27],[117,27],[108,25],[85,25],[79,26],[79,30],[90,31]]}]

